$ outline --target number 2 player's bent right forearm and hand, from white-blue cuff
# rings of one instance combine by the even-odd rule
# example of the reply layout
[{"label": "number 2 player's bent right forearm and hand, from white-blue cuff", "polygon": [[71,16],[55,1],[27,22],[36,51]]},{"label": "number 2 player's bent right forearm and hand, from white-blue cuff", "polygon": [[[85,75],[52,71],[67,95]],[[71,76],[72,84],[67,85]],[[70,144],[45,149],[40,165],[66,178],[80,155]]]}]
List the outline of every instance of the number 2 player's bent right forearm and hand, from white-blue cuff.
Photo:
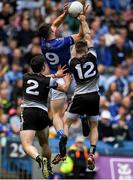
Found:
[{"label": "number 2 player's bent right forearm and hand, from white-blue cuff", "polygon": [[67,92],[72,81],[72,76],[70,74],[66,74],[64,76],[64,81],[65,81],[65,84],[58,84],[58,87],[57,87],[58,91]]}]

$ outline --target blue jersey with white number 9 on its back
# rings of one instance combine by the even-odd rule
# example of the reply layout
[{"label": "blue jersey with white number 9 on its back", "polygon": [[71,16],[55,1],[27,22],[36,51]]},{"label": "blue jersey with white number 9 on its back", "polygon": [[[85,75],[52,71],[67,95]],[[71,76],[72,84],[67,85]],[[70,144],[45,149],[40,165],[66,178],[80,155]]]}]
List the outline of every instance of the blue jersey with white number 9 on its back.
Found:
[{"label": "blue jersey with white number 9 on its back", "polygon": [[51,73],[58,70],[58,66],[67,65],[70,59],[70,46],[74,44],[71,36],[46,41],[41,39],[41,49]]}]

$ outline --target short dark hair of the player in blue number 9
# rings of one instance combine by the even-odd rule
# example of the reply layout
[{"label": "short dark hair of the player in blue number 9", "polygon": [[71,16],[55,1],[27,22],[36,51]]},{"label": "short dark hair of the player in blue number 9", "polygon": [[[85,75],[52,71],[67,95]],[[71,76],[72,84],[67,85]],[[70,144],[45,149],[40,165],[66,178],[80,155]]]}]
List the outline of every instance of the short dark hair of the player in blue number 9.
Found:
[{"label": "short dark hair of the player in blue number 9", "polygon": [[50,35],[50,29],[51,29],[50,24],[42,23],[38,29],[40,37],[47,39]]}]

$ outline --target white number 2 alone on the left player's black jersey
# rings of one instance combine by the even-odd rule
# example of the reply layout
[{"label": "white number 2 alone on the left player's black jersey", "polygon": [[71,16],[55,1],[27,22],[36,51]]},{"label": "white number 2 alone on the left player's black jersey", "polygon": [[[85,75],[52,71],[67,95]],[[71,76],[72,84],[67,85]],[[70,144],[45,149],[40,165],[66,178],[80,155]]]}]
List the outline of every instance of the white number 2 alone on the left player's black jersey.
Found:
[{"label": "white number 2 alone on the left player's black jersey", "polygon": [[30,87],[26,88],[26,93],[27,94],[32,94],[32,95],[39,95],[39,91],[35,91],[36,88],[38,88],[39,84],[35,80],[28,80],[27,84],[33,84]]}]

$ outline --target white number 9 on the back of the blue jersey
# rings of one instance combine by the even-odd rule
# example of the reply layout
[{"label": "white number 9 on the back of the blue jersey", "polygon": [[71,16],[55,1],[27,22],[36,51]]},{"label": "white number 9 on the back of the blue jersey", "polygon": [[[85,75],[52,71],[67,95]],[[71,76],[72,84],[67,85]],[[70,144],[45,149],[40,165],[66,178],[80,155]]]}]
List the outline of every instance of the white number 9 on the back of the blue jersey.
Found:
[{"label": "white number 9 on the back of the blue jersey", "polygon": [[49,60],[49,63],[51,65],[56,65],[59,63],[59,57],[55,53],[46,53],[45,54],[46,58]]}]

